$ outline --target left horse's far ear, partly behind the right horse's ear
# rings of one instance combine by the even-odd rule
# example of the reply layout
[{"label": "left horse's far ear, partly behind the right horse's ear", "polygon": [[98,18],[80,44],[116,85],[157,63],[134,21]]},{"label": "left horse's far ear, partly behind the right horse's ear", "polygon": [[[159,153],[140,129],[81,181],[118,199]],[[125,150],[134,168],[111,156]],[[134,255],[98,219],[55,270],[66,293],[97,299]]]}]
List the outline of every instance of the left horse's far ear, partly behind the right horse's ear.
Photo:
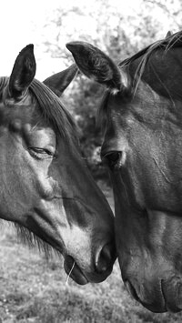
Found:
[{"label": "left horse's far ear, partly behind the right horse's ear", "polygon": [[56,94],[56,96],[61,96],[77,73],[78,68],[76,64],[73,64],[64,71],[46,78],[43,83],[45,86],[48,86]]}]

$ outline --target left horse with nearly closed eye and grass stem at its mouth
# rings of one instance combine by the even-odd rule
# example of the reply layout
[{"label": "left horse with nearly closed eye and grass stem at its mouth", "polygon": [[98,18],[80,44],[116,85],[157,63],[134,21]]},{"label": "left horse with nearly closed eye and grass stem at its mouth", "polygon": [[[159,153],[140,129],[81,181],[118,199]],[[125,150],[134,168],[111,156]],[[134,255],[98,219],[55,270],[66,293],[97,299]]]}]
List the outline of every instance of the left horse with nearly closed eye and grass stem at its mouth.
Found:
[{"label": "left horse with nearly closed eye and grass stem at its mouth", "polygon": [[78,284],[98,283],[116,259],[114,216],[81,154],[60,96],[77,66],[35,79],[34,45],[0,77],[0,218],[49,255],[63,255]]}]

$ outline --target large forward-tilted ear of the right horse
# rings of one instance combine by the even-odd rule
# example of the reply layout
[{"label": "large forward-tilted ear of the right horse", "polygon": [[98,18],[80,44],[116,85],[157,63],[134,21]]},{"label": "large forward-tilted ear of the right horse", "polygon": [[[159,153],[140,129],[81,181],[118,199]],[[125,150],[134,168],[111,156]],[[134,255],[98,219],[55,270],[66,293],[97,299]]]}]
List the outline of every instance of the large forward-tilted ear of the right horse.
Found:
[{"label": "large forward-tilted ear of the right horse", "polygon": [[121,91],[126,87],[124,73],[100,49],[85,42],[71,42],[66,47],[74,56],[80,71],[88,78],[93,78],[113,91]]}]

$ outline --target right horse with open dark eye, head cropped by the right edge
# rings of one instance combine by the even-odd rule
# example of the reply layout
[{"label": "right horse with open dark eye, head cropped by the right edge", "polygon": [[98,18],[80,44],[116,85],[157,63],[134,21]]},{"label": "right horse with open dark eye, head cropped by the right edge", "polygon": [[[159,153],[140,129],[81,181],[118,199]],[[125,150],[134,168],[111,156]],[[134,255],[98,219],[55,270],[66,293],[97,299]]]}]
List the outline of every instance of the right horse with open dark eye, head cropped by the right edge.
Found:
[{"label": "right horse with open dark eye, head cropped by the right edge", "polygon": [[182,31],[118,66],[96,46],[68,43],[105,86],[98,107],[109,169],[116,250],[129,293],[153,312],[182,309]]}]

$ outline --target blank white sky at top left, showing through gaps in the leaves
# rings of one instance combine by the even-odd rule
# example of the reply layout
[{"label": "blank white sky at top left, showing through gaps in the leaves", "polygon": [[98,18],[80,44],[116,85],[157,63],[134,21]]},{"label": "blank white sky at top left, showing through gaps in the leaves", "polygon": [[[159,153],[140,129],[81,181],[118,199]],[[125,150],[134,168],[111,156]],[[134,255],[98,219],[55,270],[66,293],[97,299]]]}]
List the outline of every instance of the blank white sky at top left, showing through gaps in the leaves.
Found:
[{"label": "blank white sky at top left, showing through gaps in the leaves", "polygon": [[[129,13],[138,10],[141,0],[108,0],[115,5],[120,12]],[[99,0],[97,0],[97,3]],[[70,8],[74,4],[80,7],[84,5],[94,6],[96,0],[89,3],[86,0],[4,0],[1,4],[0,30],[1,30],[1,59],[0,76],[11,74],[15,57],[20,50],[28,44],[35,44],[35,57],[37,62],[36,78],[44,80],[53,71],[59,72],[62,69],[61,62],[58,67],[58,60],[51,58],[41,50],[41,42],[45,33],[44,25],[47,19],[54,13],[58,6]],[[78,24],[79,21],[70,24]],[[87,22],[87,32],[92,33],[92,26]],[[47,34],[51,42],[51,30]],[[39,44],[39,45],[37,45]],[[59,70],[56,70],[59,68]],[[63,66],[64,68],[64,66]]]}]

